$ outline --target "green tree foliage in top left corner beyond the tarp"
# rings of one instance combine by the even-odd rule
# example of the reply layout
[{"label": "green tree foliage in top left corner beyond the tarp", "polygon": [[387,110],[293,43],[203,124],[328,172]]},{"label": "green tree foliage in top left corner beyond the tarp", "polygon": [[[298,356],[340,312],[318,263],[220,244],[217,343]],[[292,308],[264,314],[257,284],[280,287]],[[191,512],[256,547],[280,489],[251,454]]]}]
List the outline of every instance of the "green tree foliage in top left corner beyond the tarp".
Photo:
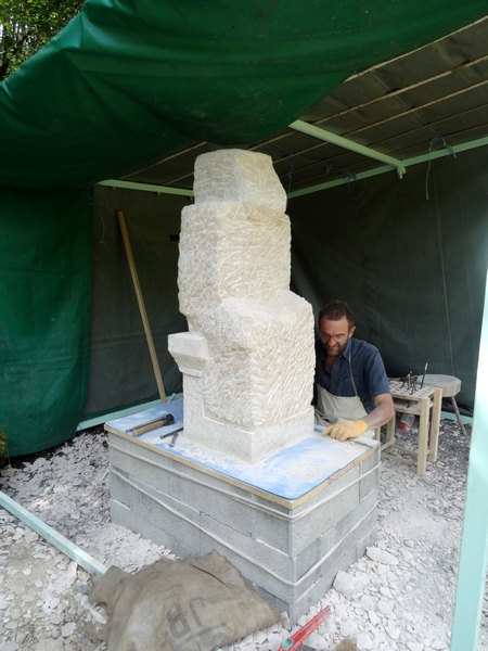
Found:
[{"label": "green tree foliage in top left corner beyond the tarp", "polygon": [[0,81],[55,36],[84,0],[0,0]]}]

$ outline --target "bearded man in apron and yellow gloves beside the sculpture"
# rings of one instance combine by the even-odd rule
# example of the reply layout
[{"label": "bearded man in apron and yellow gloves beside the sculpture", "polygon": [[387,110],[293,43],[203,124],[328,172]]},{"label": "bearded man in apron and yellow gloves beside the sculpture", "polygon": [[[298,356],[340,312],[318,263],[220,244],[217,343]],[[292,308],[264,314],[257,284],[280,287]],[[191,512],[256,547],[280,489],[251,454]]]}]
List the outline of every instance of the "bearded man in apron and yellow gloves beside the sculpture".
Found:
[{"label": "bearded man in apron and yellow gloves beside the sculpture", "polygon": [[338,441],[357,438],[395,416],[380,352],[352,339],[355,330],[347,303],[332,301],[320,310],[316,423],[325,425],[323,434]]}]

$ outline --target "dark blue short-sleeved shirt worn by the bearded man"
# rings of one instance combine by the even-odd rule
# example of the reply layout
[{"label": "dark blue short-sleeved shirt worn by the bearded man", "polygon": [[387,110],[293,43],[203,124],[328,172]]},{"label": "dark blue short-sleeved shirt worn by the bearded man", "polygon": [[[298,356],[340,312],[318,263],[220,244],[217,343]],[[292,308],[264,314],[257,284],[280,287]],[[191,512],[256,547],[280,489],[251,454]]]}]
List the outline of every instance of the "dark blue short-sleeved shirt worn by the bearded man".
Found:
[{"label": "dark blue short-sleeved shirt worn by the bearded man", "polygon": [[372,344],[350,337],[342,355],[335,360],[332,373],[326,370],[326,353],[320,341],[316,342],[316,385],[320,384],[334,396],[356,395],[349,372],[349,355],[356,390],[368,413],[374,409],[374,398],[390,393],[385,366],[380,350]]}]

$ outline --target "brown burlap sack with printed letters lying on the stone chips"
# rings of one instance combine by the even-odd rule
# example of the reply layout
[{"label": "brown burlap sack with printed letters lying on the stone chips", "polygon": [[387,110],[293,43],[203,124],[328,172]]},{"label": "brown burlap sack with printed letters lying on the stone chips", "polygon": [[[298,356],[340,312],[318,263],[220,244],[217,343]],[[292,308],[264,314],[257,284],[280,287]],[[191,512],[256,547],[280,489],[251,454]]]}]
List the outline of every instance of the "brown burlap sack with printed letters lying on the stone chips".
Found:
[{"label": "brown burlap sack with printed letters lying on the stone chips", "polygon": [[280,618],[216,551],[137,574],[112,566],[93,576],[89,599],[108,613],[108,651],[211,651]]}]

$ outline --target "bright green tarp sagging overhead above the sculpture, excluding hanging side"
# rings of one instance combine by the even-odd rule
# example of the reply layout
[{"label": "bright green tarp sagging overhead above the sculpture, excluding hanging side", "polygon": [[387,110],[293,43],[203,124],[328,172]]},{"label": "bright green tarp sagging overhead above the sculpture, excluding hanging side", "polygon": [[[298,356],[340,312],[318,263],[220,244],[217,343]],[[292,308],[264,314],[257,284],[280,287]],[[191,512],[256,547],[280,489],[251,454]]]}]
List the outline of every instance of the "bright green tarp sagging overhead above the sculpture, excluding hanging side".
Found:
[{"label": "bright green tarp sagging overhead above the sculpture, excluding hanging side", "polygon": [[253,142],[485,14],[484,0],[88,0],[0,86],[0,183],[80,188],[193,139]]}]

